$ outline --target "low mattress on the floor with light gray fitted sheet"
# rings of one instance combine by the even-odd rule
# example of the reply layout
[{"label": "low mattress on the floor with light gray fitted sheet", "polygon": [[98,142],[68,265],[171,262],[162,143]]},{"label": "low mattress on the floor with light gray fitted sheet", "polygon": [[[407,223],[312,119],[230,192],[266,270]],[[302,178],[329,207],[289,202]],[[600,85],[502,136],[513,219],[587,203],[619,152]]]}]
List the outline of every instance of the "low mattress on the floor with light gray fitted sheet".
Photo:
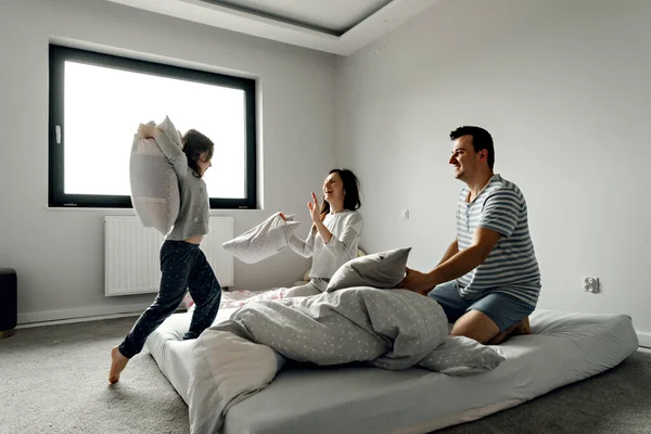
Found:
[{"label": "low mattress on the floor with light gray fitted sheet", "polygon": [[[234,310],[220,310],[216,322]],[[146,342],[183,399],[194,341],[180,339],[189,323],[190,314],[173,315]],[[474,376],[365,367],[282,370],[267,388],[228,411],[222,433],[427,433],[595,375],[638,347],[625,315],[538,309],[531,324],[534,334],[494,346],[506,357],[497,369]]]}]

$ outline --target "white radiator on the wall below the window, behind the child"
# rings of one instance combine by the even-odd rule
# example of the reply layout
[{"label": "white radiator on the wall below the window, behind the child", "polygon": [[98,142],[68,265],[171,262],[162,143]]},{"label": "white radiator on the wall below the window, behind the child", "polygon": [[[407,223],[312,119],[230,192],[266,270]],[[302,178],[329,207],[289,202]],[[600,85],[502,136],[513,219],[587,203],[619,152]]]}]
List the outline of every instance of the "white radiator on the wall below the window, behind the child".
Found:
[{"label": "white radiator on the wall below the window, behind the child", "polygon": [[[232,238],[232,217],[210,217],[210,232],[204,237],[201,250],[222,288],[233,285],[233,257],[221,247]],[[144,228],[137,216],[104,217],[104,294],[157,292],[162,244],[163,235]]]}]

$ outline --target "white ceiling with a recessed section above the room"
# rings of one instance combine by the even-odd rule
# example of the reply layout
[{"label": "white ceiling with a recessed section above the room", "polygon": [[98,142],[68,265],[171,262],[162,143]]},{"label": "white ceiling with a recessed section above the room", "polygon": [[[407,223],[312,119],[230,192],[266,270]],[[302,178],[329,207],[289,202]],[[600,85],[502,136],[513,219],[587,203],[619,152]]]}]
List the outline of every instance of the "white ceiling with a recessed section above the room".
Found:
[{"label": "white ceiling with a recessed section above the room", "polygon": [[349,55],[439,0],[107,0],[242,34]]}]

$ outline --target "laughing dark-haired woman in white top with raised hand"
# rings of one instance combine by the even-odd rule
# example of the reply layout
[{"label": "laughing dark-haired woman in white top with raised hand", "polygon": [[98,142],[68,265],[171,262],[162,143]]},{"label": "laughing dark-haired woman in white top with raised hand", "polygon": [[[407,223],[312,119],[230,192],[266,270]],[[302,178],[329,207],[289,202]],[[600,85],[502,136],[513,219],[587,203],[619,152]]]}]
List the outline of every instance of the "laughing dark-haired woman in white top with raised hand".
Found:
[{"label": "laughing dark-haired woman in white top with raised hand", "polygon": [[[363,220],[357,209],[359,180],[348,169],[332,169],[323,182],[323,205],[311,193],[307,203],[312,220],[305,241],[293,235],[290,247],[304,257],[311,257],[310,281],[288,290],[284,297],[317,295],[342,265],[357,256]],[[281,214],[282,215],[282,214]],[[284,218],[284,216],[283,216]]]}]

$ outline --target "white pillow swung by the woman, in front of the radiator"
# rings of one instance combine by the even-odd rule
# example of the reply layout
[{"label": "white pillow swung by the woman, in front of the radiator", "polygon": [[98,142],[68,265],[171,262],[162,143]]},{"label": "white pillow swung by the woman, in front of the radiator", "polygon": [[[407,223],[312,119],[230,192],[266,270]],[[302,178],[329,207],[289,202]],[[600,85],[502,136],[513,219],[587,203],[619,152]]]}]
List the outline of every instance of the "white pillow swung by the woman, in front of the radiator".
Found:
[{"label": "white pillow swung by the woman, in front of the radiator", "polygon": [[286,247],[290,238],[301,225],[298,221],[293,221],[294,216],[285,216],[285,218],[286,221],[283,220],[280,213],[276,213],[255,228],[227,241],[221,246],[243,263],[259,263]]}]

